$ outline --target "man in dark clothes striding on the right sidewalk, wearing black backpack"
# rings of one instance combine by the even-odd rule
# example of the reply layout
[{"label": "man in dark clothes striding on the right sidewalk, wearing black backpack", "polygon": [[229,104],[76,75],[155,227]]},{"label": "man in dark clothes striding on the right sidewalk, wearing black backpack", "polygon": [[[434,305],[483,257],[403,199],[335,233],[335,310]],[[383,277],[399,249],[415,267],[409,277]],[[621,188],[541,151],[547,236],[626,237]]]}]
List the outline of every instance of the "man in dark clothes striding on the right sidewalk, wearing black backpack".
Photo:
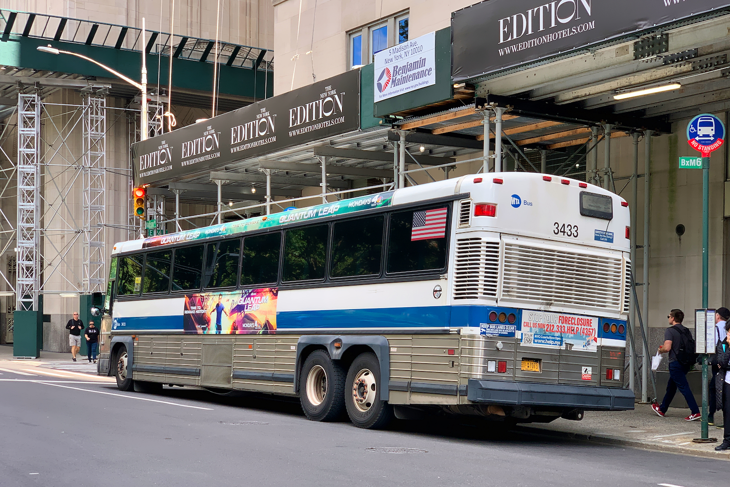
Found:
[{"label": "man in dark clothes striding on the right sidewalk, wearing black backpack", "polygon": [[664,331],[664,345],[659,347],[659,353],[669,353],[669,381],[666,383],[666,394],[664,395],[664,400],[661,402],[661,406],[655,402],[651,407],[657,415],[664,417],[672,399],[675,399],[677,389],[679,389],[685,397],[691,412],[685,418],[685,421],[702,419],[697,402],[694,400],[694,395],[690,391],[689,383],[687,382],[687,372],[689,372],[691,364],[685,366],[677,360],[677,353],[680,350],[680,345],[682,345],[682,334],[686,330],[682,324],[682,321],[684,321],[684,313],[682,310],[672,310],[666,318],[669,319],[669,328]]}]

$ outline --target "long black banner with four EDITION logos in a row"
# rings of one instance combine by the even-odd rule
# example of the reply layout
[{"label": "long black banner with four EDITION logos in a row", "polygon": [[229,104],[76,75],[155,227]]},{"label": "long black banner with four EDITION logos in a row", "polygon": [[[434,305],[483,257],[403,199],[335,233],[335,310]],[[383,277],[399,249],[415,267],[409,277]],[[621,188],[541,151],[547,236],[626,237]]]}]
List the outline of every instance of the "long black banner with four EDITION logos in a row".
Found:
[{"label": "long black banner with four EDITION logos in a row", "polygon": [[133,144],[134,184],[202,174],[359,126],[360,72],[353,70]]}]

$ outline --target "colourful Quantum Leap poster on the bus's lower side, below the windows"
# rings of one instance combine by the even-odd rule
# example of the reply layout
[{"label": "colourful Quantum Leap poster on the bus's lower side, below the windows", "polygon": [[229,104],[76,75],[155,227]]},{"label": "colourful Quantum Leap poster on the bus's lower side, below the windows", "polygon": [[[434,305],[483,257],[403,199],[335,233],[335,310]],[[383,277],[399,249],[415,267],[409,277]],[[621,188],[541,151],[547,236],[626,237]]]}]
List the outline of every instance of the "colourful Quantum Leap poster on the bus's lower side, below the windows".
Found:
[{"label": "colourful Quantum Leap poster on the bus's lower side, below the windows", "polygon": [[183,330],[199,334],[276,333],[277,288],[185,295]]}]

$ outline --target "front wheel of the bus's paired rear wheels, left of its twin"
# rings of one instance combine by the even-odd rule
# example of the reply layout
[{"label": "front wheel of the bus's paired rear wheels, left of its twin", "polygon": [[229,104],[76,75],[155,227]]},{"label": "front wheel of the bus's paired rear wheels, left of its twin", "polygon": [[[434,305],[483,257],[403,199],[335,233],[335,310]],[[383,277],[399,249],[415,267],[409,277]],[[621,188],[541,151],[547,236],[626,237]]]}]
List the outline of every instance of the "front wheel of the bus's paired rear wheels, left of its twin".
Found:
[{"label": "front wheel of the bus's paired rear wheels, left of its twin", "polygon": [[325,350],[310,353],[299,377],[301,409],[312,421],[333,421],[345,410],[345,369]]}]

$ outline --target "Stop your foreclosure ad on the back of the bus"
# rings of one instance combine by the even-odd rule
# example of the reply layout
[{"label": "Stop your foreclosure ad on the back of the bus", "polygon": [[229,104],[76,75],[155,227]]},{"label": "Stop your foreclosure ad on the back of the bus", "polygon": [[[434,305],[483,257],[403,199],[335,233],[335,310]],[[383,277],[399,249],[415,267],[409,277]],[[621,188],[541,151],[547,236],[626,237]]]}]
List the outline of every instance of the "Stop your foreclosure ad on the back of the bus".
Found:
[{"label": "Stop your foreclosure ad on the back of the bus", "polygon": [[598,318],[523,310],[520,345],[596,352]]}]

